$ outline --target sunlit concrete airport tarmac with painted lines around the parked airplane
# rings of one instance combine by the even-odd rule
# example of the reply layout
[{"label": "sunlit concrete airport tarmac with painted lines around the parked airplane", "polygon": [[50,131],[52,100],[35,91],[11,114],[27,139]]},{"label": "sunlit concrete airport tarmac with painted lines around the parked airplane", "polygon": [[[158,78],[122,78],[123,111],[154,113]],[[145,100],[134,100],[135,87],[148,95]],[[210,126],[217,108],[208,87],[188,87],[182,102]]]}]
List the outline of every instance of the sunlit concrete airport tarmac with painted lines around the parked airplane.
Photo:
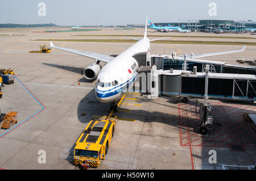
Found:
[{"label": "sunlit concrete airport tarmac with painted lines around the parked airplane", "polygon": [[[0,34],[6,35],[24,34],[0,36],[0,68],[15,71],[15,83],[3,87],[3,98],[0,99],[1,112],[18,112],[17,124],[10,129],[0,129],[0,169],[79,169],[73,164],[73,148],[77,138],[90,120],[109,114],[110,104],[100,103],[95,97],[95,81],[86,80],[80,72],[81,68],[92,64],[92,59],[57,49],[45,54],[28,53],[30,50],[38,50],[40,44],[49,47],[49,41],[31,39],[102,39],[96,36],[72,36],[85,33],[143,35],[143,28],[38,33],[41,30],[0,30]],[[148,30],[148,35],[151,34],[212,35],[195,32],[160,33]],[[212,36],[220,36],[220,39],[210,41],[241,41],[221,39],[224,35]],[[253,37],[249,34],[225,36]],[[103,38],[113,39],[108,36]],[[119,54],[132,45],[68,41],[53,43],[60,47],[107,55]],[[151,44],[151,54],[176,52],[177,55],[183,55],[241,48],[242,46],[236,45]],[[204,59],[238,64],[237,59],[255,60],[255,50],[255,46],[247,46],[241,53]],[[104,66],[104,63],[100,64]],[[196,113],[193,100],[185,104],[176,98],[166,96],[148,99],[147,96],[127,94],[119,111],[115,113],[117,125],[108,154],[97,169],[255,169],[256,133],[250,123],[245,122],[242,117],[242,113],[256,113],[255,104],[219,100],[210,102],[216,105],[214,111],[220,115],[224,123],[219,125],[214,122],[213,131],[208,136],[201,136],[197,130],[201,114]],[[86,115],[82,116],[82,113]],[[46,163],[39,163],[40,150],[46,153]],[[216,163],[209,163],[210,150],[216,151]]]}]

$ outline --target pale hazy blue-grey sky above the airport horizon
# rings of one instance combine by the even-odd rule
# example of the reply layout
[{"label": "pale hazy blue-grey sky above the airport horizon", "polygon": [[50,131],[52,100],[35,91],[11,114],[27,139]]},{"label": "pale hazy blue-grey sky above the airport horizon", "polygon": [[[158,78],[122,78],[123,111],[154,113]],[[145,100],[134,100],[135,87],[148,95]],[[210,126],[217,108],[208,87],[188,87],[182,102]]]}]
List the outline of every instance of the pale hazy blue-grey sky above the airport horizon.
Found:
[{"label": "pale hazy blue-grey sky above the airport horizon", "polygon": [[[46,16],[38,15],[38,3],[46,3]],[[217,16],[209,16],[210,2]],[[144,24],[193,19],[256,21],[255,0],[0,0],[0,23],[55,23],[63,26]]]}]

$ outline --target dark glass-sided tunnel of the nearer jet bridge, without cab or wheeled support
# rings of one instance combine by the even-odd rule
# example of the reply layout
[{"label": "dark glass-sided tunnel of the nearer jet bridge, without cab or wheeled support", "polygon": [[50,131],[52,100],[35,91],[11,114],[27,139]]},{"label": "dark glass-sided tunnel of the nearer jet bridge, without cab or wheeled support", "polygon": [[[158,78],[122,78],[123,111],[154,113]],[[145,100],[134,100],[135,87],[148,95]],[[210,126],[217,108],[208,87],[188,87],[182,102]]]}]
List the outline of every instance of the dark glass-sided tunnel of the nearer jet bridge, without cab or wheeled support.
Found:
[{"label": "dark glass-sided tunnel of the nearer jet bridge, without cab or wheeled support", "polygon": [[[156,70],[159,95],[204,98],[205,73]],[[256,102],[256,75],[209,73],[208,98]]]}]

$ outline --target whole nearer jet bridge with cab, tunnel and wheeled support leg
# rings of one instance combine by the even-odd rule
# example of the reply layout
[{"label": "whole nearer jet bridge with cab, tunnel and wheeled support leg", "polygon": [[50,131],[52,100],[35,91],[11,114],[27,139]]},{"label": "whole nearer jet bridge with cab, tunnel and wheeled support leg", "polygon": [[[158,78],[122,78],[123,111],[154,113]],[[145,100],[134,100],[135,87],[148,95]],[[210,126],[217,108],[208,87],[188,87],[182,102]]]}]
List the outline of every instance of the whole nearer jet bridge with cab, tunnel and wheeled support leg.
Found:
[{"label": "whole nearer jet bridge with cab, tunnel and wheeled support leg", "polygon": [[[206,135],[208,130],[211,130],[213,117],[219,124],[222,123],[222,120],[210,111],[207,99],[256,103],[256,75],[211,73],[212,68],[209,65],[205,67],[203,72],[197,72],[196,67],[193,71],[188,71],[157,70],[155,64],[143,66],[138,70],[139,92],[148,95],[150,99],[160,95],[180,97],[183,100],[204,99],[204,119],[199,132]],[[143,77],[146,77],[144,81],[141,80]]]}]

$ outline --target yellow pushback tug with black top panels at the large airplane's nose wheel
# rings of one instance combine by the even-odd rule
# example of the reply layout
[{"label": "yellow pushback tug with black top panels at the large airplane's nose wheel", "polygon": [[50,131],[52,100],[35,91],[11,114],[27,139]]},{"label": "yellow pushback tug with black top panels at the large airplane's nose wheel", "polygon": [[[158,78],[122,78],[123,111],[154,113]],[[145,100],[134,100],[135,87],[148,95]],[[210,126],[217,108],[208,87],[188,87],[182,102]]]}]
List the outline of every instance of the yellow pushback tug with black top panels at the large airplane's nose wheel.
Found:
[{"label": "yellow pushback tug with black top panels at the large airplane's nose wheel", "polygon": [[76,141],[74,163],[84,169],[98,167],[101,159],[105,159],[112,137],[114,136],[115,119],[91,120]]}]

